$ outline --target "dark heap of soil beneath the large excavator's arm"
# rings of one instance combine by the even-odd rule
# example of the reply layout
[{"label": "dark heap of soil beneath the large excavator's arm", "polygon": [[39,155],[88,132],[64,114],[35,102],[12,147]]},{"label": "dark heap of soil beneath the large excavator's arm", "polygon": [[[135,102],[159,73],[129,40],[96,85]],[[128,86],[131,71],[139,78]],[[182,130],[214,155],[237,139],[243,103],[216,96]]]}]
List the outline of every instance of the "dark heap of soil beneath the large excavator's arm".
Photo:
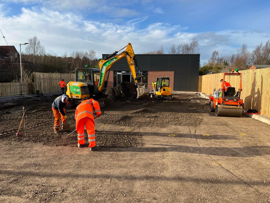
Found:
[{"label": "dark heap of soil beneath the large excavator's arm", "polygon": [[136,85],[129,82],[122,82],[118,84],[115,88],[109,88],[105,92],[107,98],[114,101],[133,101],[137,98]]}]

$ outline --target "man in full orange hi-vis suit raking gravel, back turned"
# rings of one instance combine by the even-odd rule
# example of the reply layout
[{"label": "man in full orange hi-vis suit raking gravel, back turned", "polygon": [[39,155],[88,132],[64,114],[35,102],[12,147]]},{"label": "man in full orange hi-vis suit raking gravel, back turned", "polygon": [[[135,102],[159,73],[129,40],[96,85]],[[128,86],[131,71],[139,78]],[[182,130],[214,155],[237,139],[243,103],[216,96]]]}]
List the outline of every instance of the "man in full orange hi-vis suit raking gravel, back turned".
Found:
[{"label": "man in full orange hi-vis suit raking gravel, back turned", "polygon": [[78,133],[78,147],[84,145],[84,126],[88,134],[88,142],[90,151],[95,151],[100,147],[96,145],[95,136],[95,120],[93,114],[93,107],[96,110],[97,117],[101,116],[99,103],[93,99],[82,99],[75,111],[76,130]]}]

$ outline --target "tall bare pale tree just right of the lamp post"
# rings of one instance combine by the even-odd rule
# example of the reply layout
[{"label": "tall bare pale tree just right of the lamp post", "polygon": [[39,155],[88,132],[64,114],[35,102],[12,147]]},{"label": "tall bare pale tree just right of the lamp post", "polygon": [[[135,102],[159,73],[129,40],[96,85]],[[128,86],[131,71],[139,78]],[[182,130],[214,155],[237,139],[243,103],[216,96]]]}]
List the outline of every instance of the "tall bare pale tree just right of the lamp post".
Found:
[{"label": "tall bare pale tree just right of the lamp post", "polygon": [[26,46],[26,53],[31,56],[31,60],[33,62],[34,71],[36,71],[36,62],[38,55],[40,54],[40,50],[42,49],[40,45],[40,41],[36,37],[36,35],[28,40],[28,45]]}]

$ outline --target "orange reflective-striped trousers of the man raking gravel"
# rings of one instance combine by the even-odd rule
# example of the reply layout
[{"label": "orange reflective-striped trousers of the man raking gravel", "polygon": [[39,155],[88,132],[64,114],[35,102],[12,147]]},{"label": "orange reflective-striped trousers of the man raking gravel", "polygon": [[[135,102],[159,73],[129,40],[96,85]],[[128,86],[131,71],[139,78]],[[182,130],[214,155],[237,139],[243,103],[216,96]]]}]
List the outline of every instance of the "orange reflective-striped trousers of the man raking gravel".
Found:
[{"label": "orange reflective-striped trousers of the man raking gravel", "polygon": [[95,136],[95,123],[92,118],[84,117],[79,120],[76,130],[78,133],[78,143],[83,145],[84,140],[84,126],[88,134],[89,147],[96,146],[96,136]]}]

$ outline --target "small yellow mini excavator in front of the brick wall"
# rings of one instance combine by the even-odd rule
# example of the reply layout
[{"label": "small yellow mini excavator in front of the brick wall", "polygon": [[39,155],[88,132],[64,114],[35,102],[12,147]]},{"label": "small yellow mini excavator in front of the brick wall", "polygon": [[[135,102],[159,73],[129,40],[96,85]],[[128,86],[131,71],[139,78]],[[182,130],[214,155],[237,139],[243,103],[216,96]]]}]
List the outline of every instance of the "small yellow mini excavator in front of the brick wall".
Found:
[{"label": "small yellow mini excavator in front of the brick wall", "polygon": [[154,95],[151,94],[151,97],[154,99],[165,98],[166,100],[173,99],[171,95],[170,78],[169,77],[158,77],[156,82],[152,82],[154,89]]}]

